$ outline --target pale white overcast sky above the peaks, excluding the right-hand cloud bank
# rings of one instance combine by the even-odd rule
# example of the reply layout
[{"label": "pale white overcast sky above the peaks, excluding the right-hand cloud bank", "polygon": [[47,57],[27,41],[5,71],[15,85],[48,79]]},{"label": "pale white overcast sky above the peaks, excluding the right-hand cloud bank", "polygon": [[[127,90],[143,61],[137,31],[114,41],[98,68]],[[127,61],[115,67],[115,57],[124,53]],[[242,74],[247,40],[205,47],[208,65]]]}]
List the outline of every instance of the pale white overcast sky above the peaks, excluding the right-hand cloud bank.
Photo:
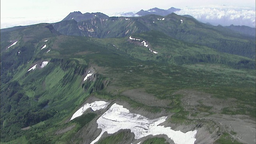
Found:
[{"label": "pale white overcast sky above the peaks, excluding the right-hand cloud bank", "polygon": [[255,0],[0,0],[1,28],[40,22],[58,22],[70,12],[102,12],[113,16],[120,12],[138,12],[150,8],[193,8],[199,6],[235,6],[254,10]]}]

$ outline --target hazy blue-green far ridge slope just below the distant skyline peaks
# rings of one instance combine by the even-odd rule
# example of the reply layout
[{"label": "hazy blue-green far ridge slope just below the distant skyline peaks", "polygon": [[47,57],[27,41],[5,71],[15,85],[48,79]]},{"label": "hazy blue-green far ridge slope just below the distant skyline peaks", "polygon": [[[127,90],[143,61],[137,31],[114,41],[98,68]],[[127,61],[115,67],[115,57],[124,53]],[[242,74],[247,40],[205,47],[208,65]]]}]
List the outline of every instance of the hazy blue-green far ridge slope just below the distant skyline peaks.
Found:
[{"label": "hazy blue-green far ridge slope just below the distant skyline peaks", "polygon": [[255,37],[244,36],[222,26],[203,24],[194,18],[174,13],[164,17],[147,15],[133,18],[93,18],[80,22],[62,21],[53,26],[65,35],[94,38],[125,37],[156,30],[176,40],[208,46],[220,52],[255,58]]}]

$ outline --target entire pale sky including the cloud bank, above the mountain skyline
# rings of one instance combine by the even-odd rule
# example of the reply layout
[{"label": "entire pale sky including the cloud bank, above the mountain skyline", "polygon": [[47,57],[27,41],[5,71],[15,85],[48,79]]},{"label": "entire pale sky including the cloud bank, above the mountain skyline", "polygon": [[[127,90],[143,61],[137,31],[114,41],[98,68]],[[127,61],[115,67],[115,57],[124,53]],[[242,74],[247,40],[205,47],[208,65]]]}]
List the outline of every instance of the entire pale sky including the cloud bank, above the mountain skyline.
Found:
[{"label": "entire pale sky including the cloud bank, above the mountain skyline", "polygon": [[[125,12],[138,12],[141,9],[150,8],[168,9],[171,7],[182,9],[177,14],[188,14],[195,18],[207,18],[212,22],[223,16],[233,18],[234,25],[255,27],[255,1],[233,1],[226,0],[190,0],[166,1],[166,0],[140,0],[138,2],[115,1],[115,0],[94,0],[85,2],[77,0],[1,0],[0,1],[0,28],[10,28],[13,26],[26,26],[38,23],[54,23],[64,19],[70,12],[102,12],[108,16],[122,16]],[[203,9],[204,8],[204,9]],[[223,20],[222,20],[223,21]],[[239,23],[240,22],[240,23]],[[225,23],[225,21],[224,21]],[[230,25],[230,22],[226,22]],[[216,25],[216,24],[215,24]],[[223,24],[222,24],[223,25]]]}]

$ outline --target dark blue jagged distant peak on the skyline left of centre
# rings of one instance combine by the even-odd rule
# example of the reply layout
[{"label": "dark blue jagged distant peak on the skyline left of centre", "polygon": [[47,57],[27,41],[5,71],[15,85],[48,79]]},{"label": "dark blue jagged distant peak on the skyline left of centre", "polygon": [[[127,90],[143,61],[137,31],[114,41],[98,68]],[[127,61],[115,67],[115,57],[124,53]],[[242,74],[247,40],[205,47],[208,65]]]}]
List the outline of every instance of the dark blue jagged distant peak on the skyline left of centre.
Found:
[{"label": "dark blue jagged distant peak on the skyline left of centre", "polygon": [[66,18],[64,18],[62,21],[75,20],[77,22],[80,22],[80,21],[84,21],[84,20],[90,20],[92,18],[108,19],[109,16],[107,16],[106,14],[102,14],[100,12],[96,12],[96,13],[86,12],[85,14],[82,14],[81,12],[78,11],[78,12],[70,12],[70,14],[68,14],[68,16],[66,16]]}]

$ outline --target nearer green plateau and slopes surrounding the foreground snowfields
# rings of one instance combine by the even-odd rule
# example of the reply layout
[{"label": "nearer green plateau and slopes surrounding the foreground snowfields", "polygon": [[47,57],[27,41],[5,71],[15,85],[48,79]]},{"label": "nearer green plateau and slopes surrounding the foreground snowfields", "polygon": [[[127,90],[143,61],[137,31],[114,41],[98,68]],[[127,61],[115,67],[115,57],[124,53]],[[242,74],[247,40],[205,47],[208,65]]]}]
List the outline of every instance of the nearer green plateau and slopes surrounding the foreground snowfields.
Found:
[{"label": "nearer green plateau and slopes surrounding the foreground snowfields", "polygon": [[[142,22],[133,24],[136,31]],[[118,35],[117,31],[112,34]],[[89,111],[70,121],[90,99],[124,102],[134,111],[154,116],[172,115],[168,124],[188,125],[189,130],[202,123],[204,132],[211,132],[207,138],[236,142],[231,130],[201,115],[240,114],[255,121],[255,60],[145,31],[131,35],[140,40],[123,35],[104,39],[64,36],[50,24],[1,32],[1,143],[92,142],[97,132],[87,130],[96,129],[102,111]],[[45,61],[49,63],[41,68]],[[89,70],[93,75],[83,81]],[[148,98],[134,99],[127,94],[129,90],[143,90]],[[210,99],[224,104],[232,100],[232,104],[209,105],[202,96],[189,109],[183,100],[186,90],[210,94]],[[218,131],[212,132],[215,128]],[[127,138],[134,142],[129,134]],[[102,141],[112,138],[120,143],[126,137],[118,132]]]}]

